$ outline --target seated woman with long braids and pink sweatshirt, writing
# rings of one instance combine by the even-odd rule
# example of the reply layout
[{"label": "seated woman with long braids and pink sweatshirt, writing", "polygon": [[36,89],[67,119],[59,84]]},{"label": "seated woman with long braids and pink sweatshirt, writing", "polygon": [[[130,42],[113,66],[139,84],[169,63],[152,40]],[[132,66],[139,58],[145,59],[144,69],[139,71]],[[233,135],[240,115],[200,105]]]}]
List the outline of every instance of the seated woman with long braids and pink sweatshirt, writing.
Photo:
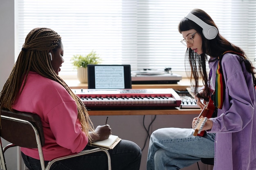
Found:
[{"label": "seated woman with long braids and pink sweatshirt, writing", "polygon": [[[84,104],[58,76],[64,62],[63,53],[58,33],[48,28],[33,29],[0,93],[1,108],[36,113],[41,117],[46,163],[56,157],[90,149],[92,141],[104,140],[111,135],[109,125],[97,126],[94,130]],[[29,170],[40,168],[38,152],[34,149],[21,148],[21,154]],[[132,141],[121,140],[110,150],[110,156],[114,169],[139,170],[141,149]],[[125,163],[122,161],[124,157]],[[94,157],[60,161],[54,170],[100,170],[106,167],[105,159],[104,154],[95,153]]]}]

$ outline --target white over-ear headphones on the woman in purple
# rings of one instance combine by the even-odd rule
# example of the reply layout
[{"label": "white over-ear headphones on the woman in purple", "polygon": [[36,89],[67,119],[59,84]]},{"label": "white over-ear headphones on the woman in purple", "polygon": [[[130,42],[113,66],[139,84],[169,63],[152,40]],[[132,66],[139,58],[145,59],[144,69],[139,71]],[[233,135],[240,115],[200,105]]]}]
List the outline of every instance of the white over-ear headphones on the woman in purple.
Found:
[{"label": "white over-ear headphones on the woman in purple", "polygon": [[202,20],[200,20],[200,18],[193,15],[192,13],[186,14],[185,18],[188,18],[189,20],[191,20],[191,21],[195,22],[196,24],[198,24],[199,26],[201,26],[203,29],[203,35],[208,40],[212,40],[213,38],[215,38],[217,36],[218,29],[215,26],[211,26],[211,25],[203,22]]}]

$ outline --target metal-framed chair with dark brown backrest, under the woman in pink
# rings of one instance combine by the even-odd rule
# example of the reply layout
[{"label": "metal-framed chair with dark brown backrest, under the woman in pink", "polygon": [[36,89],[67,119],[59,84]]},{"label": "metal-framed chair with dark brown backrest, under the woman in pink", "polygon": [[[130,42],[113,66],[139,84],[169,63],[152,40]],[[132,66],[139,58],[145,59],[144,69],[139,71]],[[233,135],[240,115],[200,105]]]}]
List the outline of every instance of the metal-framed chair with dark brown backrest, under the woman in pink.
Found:
[{"label": "metal-framed chair with dark brown backrest, under the woman in pink", "polygon": [[45,138],[43,134],[43,126],[41,119],[38,115],[25,112],[11,112],[8,110],[1,110],[1,129],[0,136],[9,141],[4,148],[2,147],[2,141],[0,139],[0,159],[3,170],[7,170],[5,163],[4,152],[13,146],[20,146],[24,148],[37,148],[40,157],[40,163],[42,170],[49,170],[52,164],[56,161],[63,159],[69,159],[72,157],[78,157],[81,155],[90,154],[93,152],[105,152],[108,157],[108,170],[111,170],[110,154],[107,150],[101,148],[95,148],[92,150],[84,150],[76,154],[66,155],[50,161],[46,167],[43,158],[42,146],[45,144]]}]

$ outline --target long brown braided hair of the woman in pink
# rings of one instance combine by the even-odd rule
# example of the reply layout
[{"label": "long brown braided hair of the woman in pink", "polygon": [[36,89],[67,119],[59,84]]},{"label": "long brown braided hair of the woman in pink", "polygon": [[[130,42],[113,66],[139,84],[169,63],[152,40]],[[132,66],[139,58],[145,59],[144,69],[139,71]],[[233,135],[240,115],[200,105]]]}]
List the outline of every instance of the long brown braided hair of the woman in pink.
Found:
[{"label": "long brown braided hair of the woman in pink", "polygon": [[[23,44],[17,62],[11,71],[11,75],[7,79],[7,82],[4,84],[3,90],[0,93],[1,108],[13,110],[13,102],[16,99],[20,88],[23,89],[25,86],[29,71],[35,71],[43,77],[47,77],[61,84],[76,101],[78,118],[84,132],[91,141],[91,137],[88,133],[89,131],[93,131],[93,127],[91,126],[90,118],[85,106],[79,97],[72,93],[63,79],[58,76],[59,67],[57,66],[57,68],[53,68],[56,60],[51,60],[48,51],[52,50],[53,54],[55,54],[57,49],[60,49],[61,46],[61,36],[51,29],[39,28],[30,31],[25,39],[25,43]],[[53,64],[51,64],[51,62]],[[20,81],[22,79],[25,79],[23,85],[22,81]],[[22,90],[20,93],[22,93]]]}]

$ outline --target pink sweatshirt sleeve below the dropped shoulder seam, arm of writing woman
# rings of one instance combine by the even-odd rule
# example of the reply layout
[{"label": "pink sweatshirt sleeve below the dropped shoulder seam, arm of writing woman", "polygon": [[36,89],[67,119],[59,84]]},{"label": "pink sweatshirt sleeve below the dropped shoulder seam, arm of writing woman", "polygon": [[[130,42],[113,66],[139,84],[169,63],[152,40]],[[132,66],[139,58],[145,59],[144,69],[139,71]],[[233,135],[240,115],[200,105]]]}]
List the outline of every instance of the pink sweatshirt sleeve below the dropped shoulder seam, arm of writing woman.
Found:
[{"label": "pink sweatshirt sleeve below the dropped shoulder seam, arm of writing woman", "polygon": [[[72,104],[71,104],[72,103]],[[74,102],[63,102],[47,114],[56,143],[72,152],[80,152],[88,144],[88,137],[81,130]]]}]

